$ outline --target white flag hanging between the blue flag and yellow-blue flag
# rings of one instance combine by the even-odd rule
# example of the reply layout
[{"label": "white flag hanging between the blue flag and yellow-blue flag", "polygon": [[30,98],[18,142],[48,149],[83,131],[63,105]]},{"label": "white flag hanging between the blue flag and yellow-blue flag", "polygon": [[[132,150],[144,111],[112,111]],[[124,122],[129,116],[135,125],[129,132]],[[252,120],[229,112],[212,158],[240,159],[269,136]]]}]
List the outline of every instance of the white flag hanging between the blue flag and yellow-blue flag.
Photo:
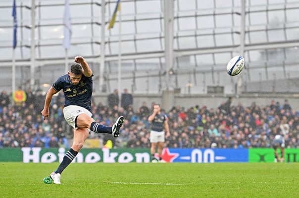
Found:
[{"label": "white flag hanging between the blue flag and yellow-blue flag", "polygon": [[64,24],[63,47],[65,49],[69,49],[71,45],[71,36],[72,36],[72,24],[71,24],[69,0],[65,0],[63,24]]}]

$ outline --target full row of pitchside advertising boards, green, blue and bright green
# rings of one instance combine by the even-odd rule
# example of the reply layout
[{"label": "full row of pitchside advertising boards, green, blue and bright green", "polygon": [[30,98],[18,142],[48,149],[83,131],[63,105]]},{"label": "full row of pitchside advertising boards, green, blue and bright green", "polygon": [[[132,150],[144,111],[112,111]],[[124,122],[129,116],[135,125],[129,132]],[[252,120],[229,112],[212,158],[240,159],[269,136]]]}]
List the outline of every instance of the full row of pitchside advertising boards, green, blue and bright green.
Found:
[{"label": "full row of pitchside advertising boards, green, blue and bright green", "polygon": [[[65,148],[0,148],[0,161],[22,161],[24,163],[61,162]],[[279,151],[280,152],[280,151]],[[157,153],[156,155],[157,156]],[[274,162],[272,148],[164,148],[162,158],[166,162]],[[73,162],[77,163],[148,163],[149,148],[96,149],[82,148]],[[285,162],[299,162],[299,149],[286,148]]]}]

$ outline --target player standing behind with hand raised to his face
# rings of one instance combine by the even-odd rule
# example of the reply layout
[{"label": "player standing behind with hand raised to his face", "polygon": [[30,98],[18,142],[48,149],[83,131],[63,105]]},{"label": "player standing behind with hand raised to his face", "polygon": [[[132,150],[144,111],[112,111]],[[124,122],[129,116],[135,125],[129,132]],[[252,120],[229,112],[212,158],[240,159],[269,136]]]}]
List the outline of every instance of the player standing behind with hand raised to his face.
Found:
[{"label": "player standing behind with hand raised to his face", "polygon": [[[166,137],[170,136],[169,126],[167,122],[167,116],[161,113],[161,108],[159,104],[153,106],[153,112],[149,116],[149,122],[151,122],[150,131],[150,153],[151,161],[157,162],[158,160],[154,157],[155,149],[158,146],[159,161],[162,160],[162,149],[165,142],[165,131]],[[165,131],[164,131],[165,129]]]}]

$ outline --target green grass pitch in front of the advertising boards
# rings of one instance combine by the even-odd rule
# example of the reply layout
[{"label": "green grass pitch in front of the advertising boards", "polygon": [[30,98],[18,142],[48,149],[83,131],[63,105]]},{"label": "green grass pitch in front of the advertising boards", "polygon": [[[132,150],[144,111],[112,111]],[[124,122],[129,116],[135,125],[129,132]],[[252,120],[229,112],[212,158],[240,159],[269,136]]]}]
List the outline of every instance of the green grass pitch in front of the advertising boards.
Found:
[{"label": "green grass pitch in front of the advertising boards", "polygon": [[44,184],[57,166],[0,162],[0,197],[299,197],[298,163],[72,163]]}]

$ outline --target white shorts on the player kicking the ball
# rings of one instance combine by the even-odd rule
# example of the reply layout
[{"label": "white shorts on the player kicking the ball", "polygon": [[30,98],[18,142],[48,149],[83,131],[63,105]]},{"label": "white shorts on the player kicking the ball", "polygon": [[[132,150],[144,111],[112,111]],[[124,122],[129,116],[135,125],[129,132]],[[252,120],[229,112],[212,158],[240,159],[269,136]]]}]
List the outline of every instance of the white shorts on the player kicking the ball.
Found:
[{"label": "white shorts on the player kicking the ball", "polygon": [[[85,113],[89,117],[92,117],[93,114],[87,110],[86,108],[82,106],[77,105],[69,105],[63,108],[63,115],[65,121],[71,125],[74,129],[78,129],[78,127],[75,126],[75,119],[78,115]],[[90,131],[90,129],[88,129]]]}]

